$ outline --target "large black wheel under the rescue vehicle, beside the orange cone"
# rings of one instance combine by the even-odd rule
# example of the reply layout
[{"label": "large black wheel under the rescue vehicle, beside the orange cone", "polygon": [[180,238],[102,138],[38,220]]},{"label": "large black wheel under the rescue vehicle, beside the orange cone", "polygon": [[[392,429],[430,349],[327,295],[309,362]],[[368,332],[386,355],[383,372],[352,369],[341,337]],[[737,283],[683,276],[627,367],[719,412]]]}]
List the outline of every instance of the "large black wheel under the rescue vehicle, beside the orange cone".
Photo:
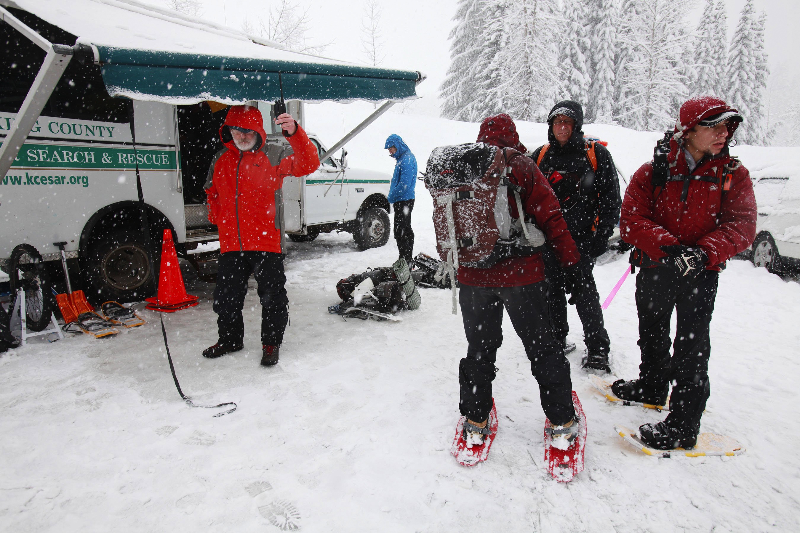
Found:
[{"label": "large black wheel under the rescue vehicle, beside the orange cone", "polygon": [[[155,248],[155,246],[154,246]],[[90,300],[140,301],[154,293],[154,269],[160,261],[154,250],[154,268],[147,261],[147,249],[139,233],[122,231],[98,241],[86,265]]]}]

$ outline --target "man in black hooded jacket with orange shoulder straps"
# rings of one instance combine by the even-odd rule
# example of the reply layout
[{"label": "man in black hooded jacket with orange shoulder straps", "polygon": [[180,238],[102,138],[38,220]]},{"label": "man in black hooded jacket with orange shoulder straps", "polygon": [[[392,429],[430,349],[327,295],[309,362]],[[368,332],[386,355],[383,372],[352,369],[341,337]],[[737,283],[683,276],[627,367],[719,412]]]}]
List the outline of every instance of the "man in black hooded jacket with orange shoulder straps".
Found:
[{"label": "man in black hooded jacket with orange shoulder straps", "polygon": [[[558,197],[566,227],[578,251],[579,268],[586,287],[570,297],[583,325],[586,356],[583,368],[610,372],[610,339],[603,322],[600,295],[594,284],[594,261],[608,249],[608,240],[619,222],[622,197],[617,169],[611,154],[599,141],[583,136],[583,108],[577,101],[559,101],[547,117],[548,144],[534,150],[531,158],[550,181]],[[569,353],[575,345],[567,343],[566,296],[570,292],[562,268],[553,253],[544,254],[545,272],[550,283],[550,313],[555,335]]]}]

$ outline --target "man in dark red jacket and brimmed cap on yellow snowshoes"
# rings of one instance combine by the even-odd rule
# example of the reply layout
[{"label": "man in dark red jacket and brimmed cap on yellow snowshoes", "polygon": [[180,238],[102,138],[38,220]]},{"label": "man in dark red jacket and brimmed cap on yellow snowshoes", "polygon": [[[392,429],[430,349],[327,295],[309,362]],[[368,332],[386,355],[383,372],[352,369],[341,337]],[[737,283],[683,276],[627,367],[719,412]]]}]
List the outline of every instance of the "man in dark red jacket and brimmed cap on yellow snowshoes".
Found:
[{"label": "man in dark red jacket and brimmed cap on yellow snowshoes", "polygon": [[719,272],[755,237],[750,173],[728,153],[741,121],[719,98],[686,101],[670,141],[668,171],[665,165],[659,176],[658,165],[642,165],[622,201],[622,240],[636,247],[632,263],[642,267],[636,277],[642,364],[638,380],[618,380],[611,389],[623,400],[663,405],[672,383],[669,416],[639,428],[642,441],[658,449],[697,442],[710,395],[709,324]]}]

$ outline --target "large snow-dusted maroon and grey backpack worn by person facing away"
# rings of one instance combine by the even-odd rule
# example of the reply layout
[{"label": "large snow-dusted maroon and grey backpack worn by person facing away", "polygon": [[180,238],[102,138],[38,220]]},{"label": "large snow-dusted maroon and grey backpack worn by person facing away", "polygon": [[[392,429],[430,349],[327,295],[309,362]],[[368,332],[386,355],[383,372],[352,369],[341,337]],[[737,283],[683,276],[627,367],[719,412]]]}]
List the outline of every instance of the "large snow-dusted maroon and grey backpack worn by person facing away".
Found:
[{"label": "large snow-dusted maroon and grey backpack worn by person facing away", "polygon": [[[520,155],[482,142],[439,146],[430,153],[423,176],[434,199],[436,249],[454,289],[459,265],[489,268],[509,257],[531,256],[545,244],[542,230],[526,216],[522,187],[509,179],[509,162]],[[511,212],[509,192],[522,221]]]}]

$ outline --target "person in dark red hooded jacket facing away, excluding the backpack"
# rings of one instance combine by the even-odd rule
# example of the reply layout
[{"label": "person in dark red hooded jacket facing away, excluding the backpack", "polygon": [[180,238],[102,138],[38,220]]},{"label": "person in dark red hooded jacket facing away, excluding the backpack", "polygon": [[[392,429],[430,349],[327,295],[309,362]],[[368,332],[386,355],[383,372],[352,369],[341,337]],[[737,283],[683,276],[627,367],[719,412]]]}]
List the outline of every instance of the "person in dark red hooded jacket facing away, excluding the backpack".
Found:
[{"label": "person in dark red hooded jacket facing away, excluding the backpack", "polygon": [[[514,121],[506,113],[484,119],[478,142],[513,148],[522,153],[527,151],[519,142]],[[579,273],[574,265],[578,264],[580,254],[566,229],[550,184],[529,157],[512,157],[509,165],[511,181],[524,189],[521,196],[526,213],[546,234],[566,272],[569,275]],[[513,198],[510,197],[509,204],[514,217],[518,217]],[[546,416],[554,426],[569,428],[565,429],[565,436],[572,440],[577,434],[578,424],[573,421],[570,363],[554,337],[542,254],[511,257],[490,268],[462,265],[458,268],[458,281],[461,285],[459,304],[469,344],[466,357],[458,367],[461,385],[459,408],[462,416],[467,417],[464,424],[467,444],[480,444],[490,426],[492,380],[496,372],[494,362],[502,344],[503,307],[522,339],[531,372],[539,384]],[[579,285],[579,280],[575,280],[575,285]]]}]

